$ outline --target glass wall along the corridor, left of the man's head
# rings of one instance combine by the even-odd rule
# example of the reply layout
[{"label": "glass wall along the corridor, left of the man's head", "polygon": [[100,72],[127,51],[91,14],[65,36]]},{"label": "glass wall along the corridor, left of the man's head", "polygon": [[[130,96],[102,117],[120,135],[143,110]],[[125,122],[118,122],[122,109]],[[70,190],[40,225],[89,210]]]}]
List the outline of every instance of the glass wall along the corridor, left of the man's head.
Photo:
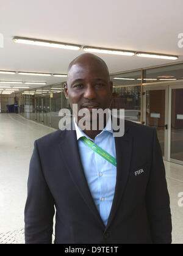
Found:
[{"label": "glass wall along the corridor, left of the man's head", "polygon": [[19,114],[56,129],[59,129],[60,109],[70,108],[63,93],[63,84],[17,93],[16,100]]}]

